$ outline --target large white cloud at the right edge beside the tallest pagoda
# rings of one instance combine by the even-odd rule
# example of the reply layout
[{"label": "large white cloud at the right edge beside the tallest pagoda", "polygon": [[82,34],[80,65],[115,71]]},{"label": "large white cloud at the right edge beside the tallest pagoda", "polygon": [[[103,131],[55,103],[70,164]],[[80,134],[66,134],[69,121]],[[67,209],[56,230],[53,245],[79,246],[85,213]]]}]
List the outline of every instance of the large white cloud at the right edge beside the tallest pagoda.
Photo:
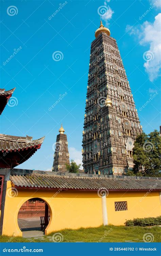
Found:
[{"label": "large white cloud at the right edge beside the tallest pagoda", "polygon": [[[155,17],[155,21],[150,23],[145,21],[143,25],[126,26],[126,31],[130,35],[137,35],[140,45],[149,45],[149,49],[143,53],[144,67],[148,73],[149,80],[153,81],[160,76],[161,69],[161,13]],[[147,57],[147,58],[146,58]],[[150,58],[150,59],[148,59]]]}]

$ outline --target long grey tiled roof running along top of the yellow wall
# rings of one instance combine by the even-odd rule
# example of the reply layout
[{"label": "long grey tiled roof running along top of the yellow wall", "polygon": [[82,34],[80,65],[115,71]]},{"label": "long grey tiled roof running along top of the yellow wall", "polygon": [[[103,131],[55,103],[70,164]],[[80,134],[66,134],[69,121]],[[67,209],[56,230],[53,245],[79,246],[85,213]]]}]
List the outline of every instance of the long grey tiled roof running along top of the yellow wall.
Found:
[{"label": "long grey tiled roof running along top of the yellow wall", "polygon": [[[18,169],[16,169],[18,170]],[[50,188],[50,189],[74,189],[74,190],[160,190],[161,178],[143,178],[127,176],[106,176],[88,174],[60,174],[50,171],[33,171],[28,174],[16,175],[13,169],[11,181],[18,187]],[[42,173],[42,174],[41,174]]]}]

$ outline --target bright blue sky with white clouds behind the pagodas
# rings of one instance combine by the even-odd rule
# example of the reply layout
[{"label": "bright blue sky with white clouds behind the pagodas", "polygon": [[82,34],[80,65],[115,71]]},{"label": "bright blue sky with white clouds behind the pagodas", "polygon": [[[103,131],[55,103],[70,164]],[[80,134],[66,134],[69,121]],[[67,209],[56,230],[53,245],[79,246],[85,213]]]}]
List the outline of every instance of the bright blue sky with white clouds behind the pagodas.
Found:
[{"label": "bright blue sky with white clouds behind the pagodas", "polygon": [[[19,168],[51,169],[61,123],[71,158],[81,162],[90,44],[100,25],[100,6],[107,7],[103,24],[117,40],[143,130],[159,130],[160,4],[155,2],[1,1],[1,88],[16,87],[16,104],[3,111],[0,133],[46,136],[41,149]],[[13,5],[12,12],[8,7]],[[15,49],[17,54],[6,62]],[[53,55],[56,51],[60,56]]]}]

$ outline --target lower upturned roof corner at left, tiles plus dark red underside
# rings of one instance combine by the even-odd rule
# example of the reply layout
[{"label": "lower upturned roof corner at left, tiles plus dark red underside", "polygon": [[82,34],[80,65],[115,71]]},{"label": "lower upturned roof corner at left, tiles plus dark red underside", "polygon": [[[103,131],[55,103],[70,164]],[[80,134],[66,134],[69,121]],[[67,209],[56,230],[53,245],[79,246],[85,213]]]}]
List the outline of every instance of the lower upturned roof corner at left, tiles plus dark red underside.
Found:
[{"label": "lower upturned roof corner at left, tiles plus dark red underside", "polygon": [[0,134],[0,168],[14,168],[28,160],[41,147],[44,137],[17,137]]}]

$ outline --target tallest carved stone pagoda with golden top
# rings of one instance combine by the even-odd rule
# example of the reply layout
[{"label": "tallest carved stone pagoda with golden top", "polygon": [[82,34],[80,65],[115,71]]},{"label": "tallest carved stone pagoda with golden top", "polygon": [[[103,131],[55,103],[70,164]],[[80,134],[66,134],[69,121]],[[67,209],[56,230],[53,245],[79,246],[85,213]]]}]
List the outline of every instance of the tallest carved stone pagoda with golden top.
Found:
[{"label": "tallest carved stone pagoda with golden top", "polygon": [[83,167],[90,174],[132,169],[133,142],[142,132],[116,40],[102,24],[91,44],[83,131]]}]

